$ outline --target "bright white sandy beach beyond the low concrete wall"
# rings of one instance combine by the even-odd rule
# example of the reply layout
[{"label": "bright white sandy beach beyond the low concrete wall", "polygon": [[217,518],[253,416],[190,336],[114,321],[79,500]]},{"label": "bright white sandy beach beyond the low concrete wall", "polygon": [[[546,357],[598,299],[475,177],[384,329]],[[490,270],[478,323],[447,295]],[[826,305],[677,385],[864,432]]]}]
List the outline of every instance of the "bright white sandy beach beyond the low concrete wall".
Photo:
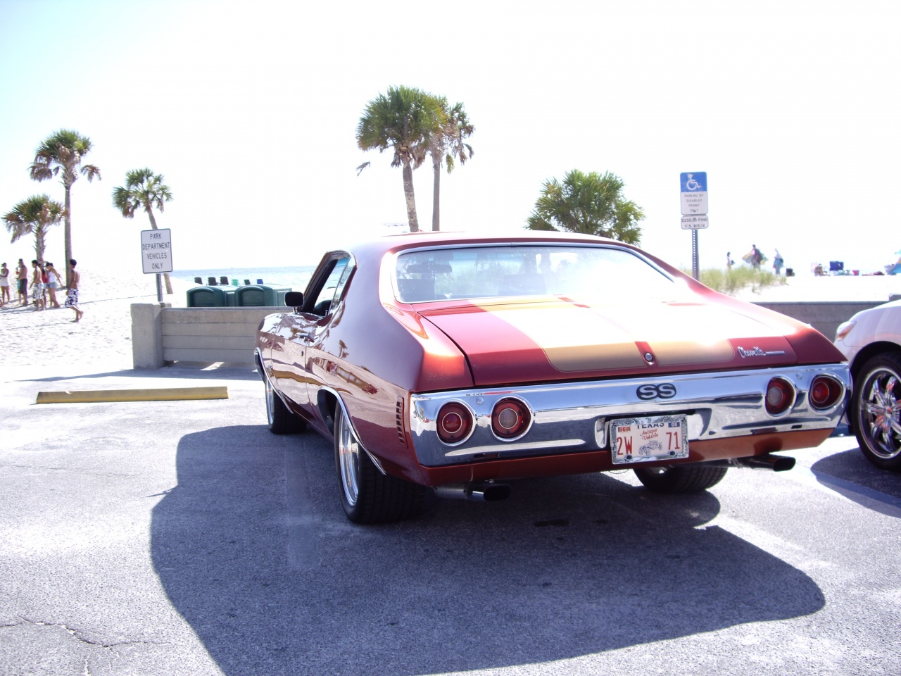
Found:
[{"label": "bright white sandy beach beyond the low concrete wall", "polygon": [[[0,367],[3,380],[107,373],[132,368],[132,303],[155,303],[153,277],[141,273],[84,269],[80,306],[84,318],[65,307],[35,312],[15,304],[0,309]],[[195,286],[172,279],[174,294],[163,295],[173,307],[184,307],[187,289]],[[787,279],[783,286],[746,288],[736,297],[760,301],[887,301],[901,294],[901,276],[814,277]],[[57,294],[63,305],[65,292]]]}]

